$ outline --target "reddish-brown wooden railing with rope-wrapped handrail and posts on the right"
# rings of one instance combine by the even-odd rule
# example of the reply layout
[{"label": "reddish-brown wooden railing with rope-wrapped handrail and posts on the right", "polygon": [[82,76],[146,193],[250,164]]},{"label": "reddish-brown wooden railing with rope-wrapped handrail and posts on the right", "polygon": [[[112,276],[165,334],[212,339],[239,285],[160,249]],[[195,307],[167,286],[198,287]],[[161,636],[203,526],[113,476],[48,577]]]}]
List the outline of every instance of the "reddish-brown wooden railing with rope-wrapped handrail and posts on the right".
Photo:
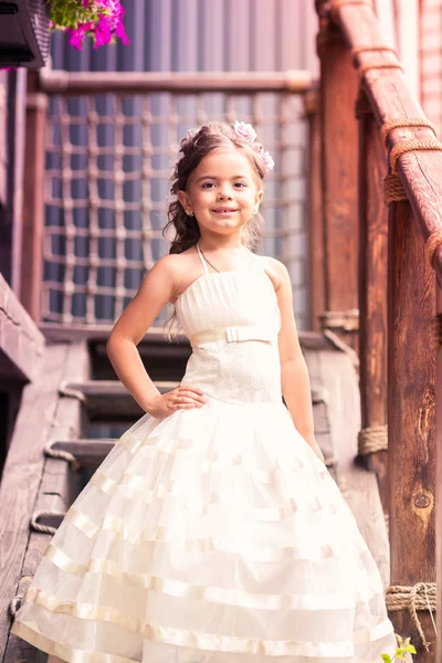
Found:
[{"label": "reddish-brown wooden railing with rope-wrapped handrail and posts on the right", "polygon": [[[390,515],[387,603],[396,631],[413,636],[418,662],[434,663],[442,660],[431,620],[436,564],[442,571],[442,362],[439,351],[436,367],[434,344],[442,335],[432,326],[442,304],[442,145],[382,43],[370,1],[316,7],[320,88],[311,122],[311,191],[322,197],[313,243],[324,269],[314,301],[325,305],[323,320],[359,348],[360,451],[378,473]],[[439,631],[441,598],[439,582]]]}]

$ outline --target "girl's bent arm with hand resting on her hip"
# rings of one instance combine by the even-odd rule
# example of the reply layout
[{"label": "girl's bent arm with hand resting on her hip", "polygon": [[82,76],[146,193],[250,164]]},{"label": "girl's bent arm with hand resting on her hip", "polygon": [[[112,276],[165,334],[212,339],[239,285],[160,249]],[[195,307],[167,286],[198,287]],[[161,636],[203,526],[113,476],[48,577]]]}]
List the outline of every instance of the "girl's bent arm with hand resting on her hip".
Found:
[{"label": "girl's bent arm with hand resting on her hip", "polygon": [[[107,355],[118,378],[139,407],[154,417],[167,415],[178,404],[183,407],[192,399],[202,399],[197,393],[189,394],[189,388],[187,390],[181,388],[181,392],[173,394],[173,398],[168,394],[160,397],[160,392],[146,372],[137,350],[137,345],[155,318],[175,298],[178,274],[177,256],[166,255],[160,259],[149,271],[134,299],[116,322],[106,344]],[[164,402],[159,403],[158,401]],[[201,402],[203,401],[201,400]]]}]

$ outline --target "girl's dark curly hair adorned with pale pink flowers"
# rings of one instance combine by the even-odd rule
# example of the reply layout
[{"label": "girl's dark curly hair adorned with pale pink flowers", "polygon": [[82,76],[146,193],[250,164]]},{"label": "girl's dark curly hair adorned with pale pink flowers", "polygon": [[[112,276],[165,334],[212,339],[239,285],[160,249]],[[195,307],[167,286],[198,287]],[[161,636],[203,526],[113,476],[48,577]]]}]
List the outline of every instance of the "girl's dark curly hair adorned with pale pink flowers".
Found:
[{"label": "girl's dark curly hair adorned with pale pink flowers", "polygon": [[[236,147],[243,151],[251,162],[256,176],[256,185],[261,188],[266,169],[260,155],[260,143],[248,143],[240,138],[233,127],[227,122],[210,122],[197,129],[188,131],[181,140],[180,151],[182,157],[177,161],[171,177],[170,193],[172,200],[168,206],[168,222],[162,231],[166,235],[170,229],[175,230],[169,253],[182,253],[194,246],[200,239],[200,230],[194,217],[188,217],[177,198],[178,191],[186,191],[191,172],[198,167],[201,159],[214,149]],[[244,227],[242,241],[249,249],[254,249],[261,239],[261,214],[253,217]]]}]

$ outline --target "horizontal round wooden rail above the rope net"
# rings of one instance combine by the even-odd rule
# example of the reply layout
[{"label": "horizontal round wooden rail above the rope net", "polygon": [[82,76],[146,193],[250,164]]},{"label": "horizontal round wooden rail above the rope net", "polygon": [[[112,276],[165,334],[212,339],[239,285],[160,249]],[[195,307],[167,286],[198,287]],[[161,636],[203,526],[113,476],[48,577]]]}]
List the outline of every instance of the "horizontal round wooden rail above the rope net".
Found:
[{"label": "horizontal round wooden rail above the rope net", "polygon": [[313,84],[313,75],[304,70],[285,72],[65,72],[43,69],[41,92],[70,95],[147,92],[201,93],[292,92],[303,94]]}]

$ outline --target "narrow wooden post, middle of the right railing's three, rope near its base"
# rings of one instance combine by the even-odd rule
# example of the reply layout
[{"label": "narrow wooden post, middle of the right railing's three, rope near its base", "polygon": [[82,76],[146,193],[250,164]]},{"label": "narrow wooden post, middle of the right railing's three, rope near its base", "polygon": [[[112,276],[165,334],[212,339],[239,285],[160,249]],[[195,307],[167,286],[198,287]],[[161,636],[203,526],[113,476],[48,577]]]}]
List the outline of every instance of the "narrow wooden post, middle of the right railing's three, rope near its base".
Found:
[{"label": "narrow wooden post, middle of the right railing's three, rope near its base", "polygon": [[377,474],[387,516],[387,449],[371,453],[366,453],[364,449],[366,440],[373,433],[382,436],[382,429],[387,442],[388,209],[383,202],[387,155],[365,95],[358,98],[356,114],[359,117],[359,375],[362,429],[359,451],[367,459],[367,467]]}]

